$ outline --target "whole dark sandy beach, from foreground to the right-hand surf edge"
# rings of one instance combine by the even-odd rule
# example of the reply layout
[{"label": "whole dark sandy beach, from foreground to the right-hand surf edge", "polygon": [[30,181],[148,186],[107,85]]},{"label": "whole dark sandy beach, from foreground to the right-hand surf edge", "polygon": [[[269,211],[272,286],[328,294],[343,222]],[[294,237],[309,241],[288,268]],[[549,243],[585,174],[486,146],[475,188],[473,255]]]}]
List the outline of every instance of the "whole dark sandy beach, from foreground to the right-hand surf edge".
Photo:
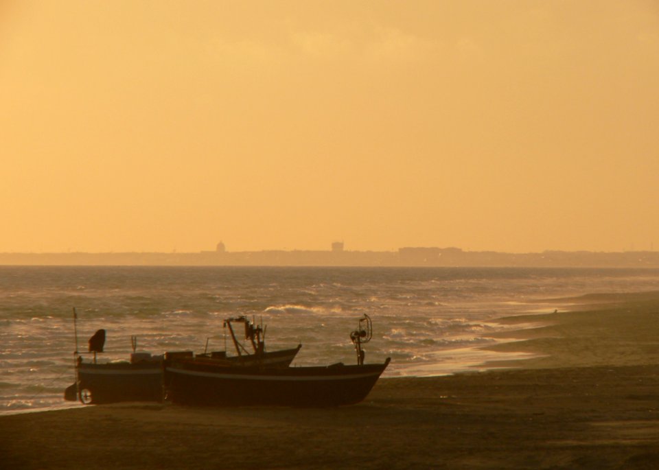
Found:
[{"label": "whole dark sandy beach, from foreground to the right-hand surf edge", "polygon": [[[572,311],[559,305],[571,304]],[[356,406],[122,403],[0,416],[7,469],[659,468],[659,293],[501,318],[485,372],[380,379]],[[505,368],[500,368],[505,367]]]}]

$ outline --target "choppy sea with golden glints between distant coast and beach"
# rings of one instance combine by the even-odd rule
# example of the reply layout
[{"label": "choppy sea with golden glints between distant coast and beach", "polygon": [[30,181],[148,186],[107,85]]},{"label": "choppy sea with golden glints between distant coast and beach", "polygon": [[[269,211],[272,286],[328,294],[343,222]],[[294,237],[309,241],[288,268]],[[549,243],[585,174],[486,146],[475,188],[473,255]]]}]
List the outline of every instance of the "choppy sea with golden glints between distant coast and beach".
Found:
[{"label": "choppy sea with golden glints between distant coast and beach", "polygon": [[266,350],[302,344],[292,366],[356,364],[367,315],[365,362],[391,357],[383,377],[445,375],[529,357],[481,349],[512,328],[496,318],[657,290],[654,269],[0,266],[0,414],[82,406],[64,390],[98,329],[99,361],[128,360],[132,337],[138,352],[231,354],[224,320],[244,315]]}]

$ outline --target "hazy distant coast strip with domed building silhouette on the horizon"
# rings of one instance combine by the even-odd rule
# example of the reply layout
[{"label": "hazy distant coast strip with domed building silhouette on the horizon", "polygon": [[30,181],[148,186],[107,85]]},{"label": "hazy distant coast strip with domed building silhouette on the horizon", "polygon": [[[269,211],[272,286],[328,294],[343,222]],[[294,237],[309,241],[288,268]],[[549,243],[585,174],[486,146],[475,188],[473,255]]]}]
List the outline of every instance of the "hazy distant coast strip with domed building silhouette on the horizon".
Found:
[{"label": "hazy distant coast strip with domed building silhouette on the horizon", "polygon": [[229,252],[2,253],[4,266],[371,266],[509,268],[659,268],[659,252],[505,253],[461,248],[402,247],[396,251],[260,250]]}]

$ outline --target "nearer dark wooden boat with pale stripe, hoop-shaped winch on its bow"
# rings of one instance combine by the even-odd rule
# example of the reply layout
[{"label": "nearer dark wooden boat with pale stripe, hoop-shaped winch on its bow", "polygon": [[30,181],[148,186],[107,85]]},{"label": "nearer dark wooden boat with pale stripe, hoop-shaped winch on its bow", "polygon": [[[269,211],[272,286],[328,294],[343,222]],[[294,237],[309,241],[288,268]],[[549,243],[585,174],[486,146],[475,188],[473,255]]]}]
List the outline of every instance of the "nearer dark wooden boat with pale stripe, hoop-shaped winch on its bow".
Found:
[{"label": "nearer dark wooden boat with pale stripe, hoop-shaped winch on its bow", "polygon": [[[364,327],[362,328],[362,325]],[[167,399],[185,405],[299,407],[340,406],[359,403],[369,394],[389,364],[364,364],[361,344],[371,339],[371,320],[360,320],[351,333],[357,365],[273,368],[230,367],[165,353]]]}]

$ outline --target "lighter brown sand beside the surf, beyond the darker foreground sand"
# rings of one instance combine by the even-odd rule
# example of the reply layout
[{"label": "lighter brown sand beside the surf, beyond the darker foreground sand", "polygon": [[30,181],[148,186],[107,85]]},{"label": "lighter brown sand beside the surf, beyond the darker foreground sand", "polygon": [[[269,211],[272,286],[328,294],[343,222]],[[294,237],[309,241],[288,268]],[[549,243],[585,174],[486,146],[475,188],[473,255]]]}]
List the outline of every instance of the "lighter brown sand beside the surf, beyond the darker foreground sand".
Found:
[{"label": "lighter brown sand beside the surf, beyond the darker foreground sand", "polygon": [[533,324],[490,333],[505,339],[487,351],[540,355],[522,360],[491,361],[490,367],[559,368],[659,364],[659,292],[596,294],[556,299],[574,304],[548,314],[507,316],[502,325]]}]

